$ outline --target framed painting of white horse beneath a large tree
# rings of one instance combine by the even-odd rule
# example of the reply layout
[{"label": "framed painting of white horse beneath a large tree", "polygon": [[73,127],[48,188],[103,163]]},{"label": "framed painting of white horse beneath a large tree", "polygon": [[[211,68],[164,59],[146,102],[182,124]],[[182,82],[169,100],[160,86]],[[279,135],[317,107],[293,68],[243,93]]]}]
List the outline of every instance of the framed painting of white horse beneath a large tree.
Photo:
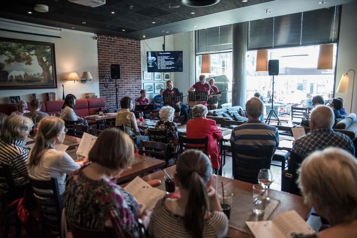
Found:
[{"label": "framed painting of white horse beneath a large tree", "polygon": [[57,88],[55,44],[0,38],[0,89]]}]

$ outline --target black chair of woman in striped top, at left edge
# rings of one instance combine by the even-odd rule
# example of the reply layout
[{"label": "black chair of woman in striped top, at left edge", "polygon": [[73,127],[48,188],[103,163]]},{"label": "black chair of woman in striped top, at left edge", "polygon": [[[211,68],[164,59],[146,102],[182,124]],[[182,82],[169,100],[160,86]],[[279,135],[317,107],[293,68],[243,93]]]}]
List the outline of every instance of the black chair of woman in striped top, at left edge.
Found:
[{"label": "black chair of woman in striped top, at left edge", "polygon": [[[0,167],[0,190],[1,191],[7,191],[1,192],[1,209],[5,209],[7,205],[9,205],[12,201],[20,198],[21,196],[16,195],[15,192],[15,184],[14,180],[12,179],[11,172],[9,167],[5,165],[1,165]],[[4,177],[2,177],[4,176]],[[7,186],[3,186],[3,184],[7,184]],[[22,193],[22,196],[24,193]],[[14,211],[13,211],[14,212]],[[21,222],[19,217],[17,216],[17,213],[15,213],[15,237],[20,238],[21,237]],[[1,212],[2,214],[2,212]],[[10,229],[10,221],[9,219],[4,219],[0,216],[1,222],[4,222],[4,233],[2,234],[2,237],[7,238],[9,236],[9,229]]]}]

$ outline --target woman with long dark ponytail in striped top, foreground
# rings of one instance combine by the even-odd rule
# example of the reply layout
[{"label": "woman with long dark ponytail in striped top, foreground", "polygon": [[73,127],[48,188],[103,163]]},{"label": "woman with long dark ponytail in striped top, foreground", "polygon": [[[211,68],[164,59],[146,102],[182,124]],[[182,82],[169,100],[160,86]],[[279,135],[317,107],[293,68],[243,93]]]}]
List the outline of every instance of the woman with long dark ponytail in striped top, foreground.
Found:
[{"label": "woman with long dark ponytail in striped top, foreground", "polygon": [[198,150],[187,150],[177,160],[175,186],[181,198],[160,199],[152,213],[150,238],[220,238],[228,230],[215,189],[211,186],[212,165]]}]

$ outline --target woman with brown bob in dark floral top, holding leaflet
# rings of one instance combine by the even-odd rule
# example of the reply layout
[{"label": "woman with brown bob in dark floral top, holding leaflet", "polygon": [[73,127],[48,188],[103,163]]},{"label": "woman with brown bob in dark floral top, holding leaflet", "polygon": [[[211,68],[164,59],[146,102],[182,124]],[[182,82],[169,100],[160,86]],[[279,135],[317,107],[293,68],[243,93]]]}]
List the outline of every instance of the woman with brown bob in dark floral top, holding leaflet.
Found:
[{"label": "woman with brown bob in dark floral top, holding leaflet", "polygon": [[[113,146],[115,145],[115,146]],[[105,129],[89,151],[91,164],[68,177],[65,191],[66,218],[86,229],[111,226],[115,237],[139,237],[139,204],[112,180],[130,167],[135,145],[116,128]],[[140,217],[148,226],[151,212]]]}]

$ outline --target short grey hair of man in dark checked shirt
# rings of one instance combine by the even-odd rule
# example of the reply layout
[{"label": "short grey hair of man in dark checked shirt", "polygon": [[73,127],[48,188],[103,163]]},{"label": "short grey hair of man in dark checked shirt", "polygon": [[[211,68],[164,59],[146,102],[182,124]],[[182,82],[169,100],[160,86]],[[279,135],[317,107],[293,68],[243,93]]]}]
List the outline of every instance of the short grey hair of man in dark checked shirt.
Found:
[{"label": "short grey hair of man in dark checked shirt", "polygon": [[311,110],[310,120],[315,122],[316,128],[332,128],[335,124],[335,114],[330,107],[326,105],[317,105]]}]

